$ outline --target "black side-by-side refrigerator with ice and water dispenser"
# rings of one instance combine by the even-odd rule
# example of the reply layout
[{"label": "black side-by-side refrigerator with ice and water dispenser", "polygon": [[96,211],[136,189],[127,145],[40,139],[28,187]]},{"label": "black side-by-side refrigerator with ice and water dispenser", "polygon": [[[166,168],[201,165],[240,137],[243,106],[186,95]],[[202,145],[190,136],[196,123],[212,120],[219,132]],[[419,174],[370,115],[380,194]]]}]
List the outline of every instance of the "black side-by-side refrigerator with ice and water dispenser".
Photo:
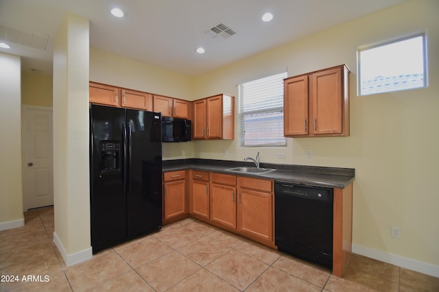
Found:
[{"label": "black side-by-side refrigerator with ice and water dispenser", "polygon": [[161,114],[90,105],[93,254],[162,225]]}]

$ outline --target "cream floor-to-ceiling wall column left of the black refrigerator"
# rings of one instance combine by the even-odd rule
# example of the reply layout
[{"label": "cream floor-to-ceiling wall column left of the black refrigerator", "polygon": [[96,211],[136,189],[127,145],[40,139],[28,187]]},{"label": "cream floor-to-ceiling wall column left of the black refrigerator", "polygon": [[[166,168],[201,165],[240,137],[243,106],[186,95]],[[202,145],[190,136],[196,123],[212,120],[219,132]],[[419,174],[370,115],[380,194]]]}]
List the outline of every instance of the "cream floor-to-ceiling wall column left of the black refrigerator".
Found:
[{"label": "cream floor-to-ceiling wall column left of the black refrigerator", "polygon": [[91,258],[88,19],[67,14],[54,39],[54,242],[66,265]]}]

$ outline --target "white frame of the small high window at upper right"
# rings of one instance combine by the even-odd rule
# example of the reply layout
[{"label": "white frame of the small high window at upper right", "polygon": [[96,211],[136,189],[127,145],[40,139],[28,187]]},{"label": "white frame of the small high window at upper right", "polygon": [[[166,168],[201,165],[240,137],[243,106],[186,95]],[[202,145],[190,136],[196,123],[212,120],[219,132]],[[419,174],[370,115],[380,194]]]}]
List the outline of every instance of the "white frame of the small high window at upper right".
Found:
[{"label": "white frame of the small high window at upper right", "polygon": [[[386,90],[383,92],[370,92],[370,93],[362,93],[361,92],[361,52],[362,51],[368,51],[370,49],[376,49],[379,47],[385,47],[389,44],[395,44],[397,42],[403,42],[405,40],[411,40],[413,38],[422,38],[422,58],[423,58],[423,85],[418,87],[412,87],[412,88],[395,88],[393,90]],[[386,40],[383,42],[377,42],[374,44],[368,44],[357,48],[357,96],[370,96],[374,94],[385,94],[390,92],[399,92],[403,90],[416,90],[420,88],[427,88],[428,87],[428,75],[427,75],[427,34],[424,32],[418,32],[416,34],[410,34],[398,38],[392,38],[391,40]]]}]

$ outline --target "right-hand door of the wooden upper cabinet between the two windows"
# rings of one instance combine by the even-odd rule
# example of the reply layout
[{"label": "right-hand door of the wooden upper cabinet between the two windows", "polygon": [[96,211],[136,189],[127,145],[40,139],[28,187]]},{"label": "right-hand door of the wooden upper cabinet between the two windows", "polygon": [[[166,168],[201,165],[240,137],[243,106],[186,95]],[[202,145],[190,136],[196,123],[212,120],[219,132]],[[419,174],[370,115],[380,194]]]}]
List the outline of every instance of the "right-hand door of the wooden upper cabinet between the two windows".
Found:
[{"label": "right-hand door of the wooden upper cabinet between the two windows", "polygon": [[342,68],[323,70],[311,75],[313,120],[315,135],[342,133]]}]

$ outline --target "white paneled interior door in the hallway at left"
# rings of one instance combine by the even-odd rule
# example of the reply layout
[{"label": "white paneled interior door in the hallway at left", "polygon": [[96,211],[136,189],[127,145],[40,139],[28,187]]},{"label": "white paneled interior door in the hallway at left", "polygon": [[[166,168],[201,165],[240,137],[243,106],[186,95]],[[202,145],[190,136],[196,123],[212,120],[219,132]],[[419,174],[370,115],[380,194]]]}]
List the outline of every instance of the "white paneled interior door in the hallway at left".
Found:
[{"label": "white paneled interior door in the hallway at left", "polygon": [[54,204],[52,109],[23,106],[23,209]]}]

